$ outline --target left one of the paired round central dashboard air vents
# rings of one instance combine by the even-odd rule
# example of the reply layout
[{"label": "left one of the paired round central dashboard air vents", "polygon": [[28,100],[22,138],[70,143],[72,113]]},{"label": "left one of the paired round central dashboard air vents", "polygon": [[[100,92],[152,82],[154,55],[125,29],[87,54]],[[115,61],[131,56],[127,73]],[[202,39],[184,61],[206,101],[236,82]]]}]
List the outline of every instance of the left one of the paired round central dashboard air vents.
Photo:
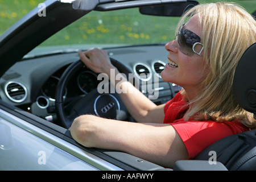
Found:
[{"label": "left one of the paired round central dashboard air vents", "polygon": [[135,75],[142,81],[148,81],[152,77],[152,72],[148,65],[143,63],[137,63],[133,67]]}]

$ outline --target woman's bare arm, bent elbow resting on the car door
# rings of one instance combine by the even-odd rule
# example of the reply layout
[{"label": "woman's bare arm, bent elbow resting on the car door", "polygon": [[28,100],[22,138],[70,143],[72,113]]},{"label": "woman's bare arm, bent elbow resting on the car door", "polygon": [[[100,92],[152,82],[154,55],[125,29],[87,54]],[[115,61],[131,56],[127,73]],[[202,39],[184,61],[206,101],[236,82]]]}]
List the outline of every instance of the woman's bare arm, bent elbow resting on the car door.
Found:
[{"label": "woman's bare arm, bent elbow resting on the car door", "polygon": [[173,167],[176,160],[188,158],[183,141],[169,124],[123,122],[81,115],[69,130],[85,147],[127,152],[164,167]]}]

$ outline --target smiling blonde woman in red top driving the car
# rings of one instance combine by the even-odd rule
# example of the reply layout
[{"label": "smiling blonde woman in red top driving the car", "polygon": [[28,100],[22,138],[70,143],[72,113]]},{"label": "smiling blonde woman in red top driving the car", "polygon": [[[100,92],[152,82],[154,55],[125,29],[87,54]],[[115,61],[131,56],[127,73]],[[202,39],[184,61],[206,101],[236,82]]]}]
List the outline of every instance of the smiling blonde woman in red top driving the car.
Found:
[{"label": "smiling blonde woman in red top driving the car", "polygon": [[[181,18],[176,39],[166,44],[168,63],[162,72],[164,81],[183,90],[156,106],[122,82],[133,90],[119,95],[137,123],[82,115],[70,128],[72,137],[86,147],[124,151],[173,167],[221,138],[254,128],[253,115],[234,100],[232,82],[243,52],[255,42],[256,21],[242,7],[221,2],[193,7]],[[110,76],[115,69],[118,74],[106,51],[79,56],[94,72]]]}]

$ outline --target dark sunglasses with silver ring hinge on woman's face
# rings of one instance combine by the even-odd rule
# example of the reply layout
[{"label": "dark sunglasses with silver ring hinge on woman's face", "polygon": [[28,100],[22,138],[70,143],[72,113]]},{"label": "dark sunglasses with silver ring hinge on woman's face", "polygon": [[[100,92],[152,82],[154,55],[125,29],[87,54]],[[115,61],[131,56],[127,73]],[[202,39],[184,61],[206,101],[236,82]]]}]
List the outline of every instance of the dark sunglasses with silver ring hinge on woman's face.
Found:
[{"label": "dark sunglasses with silver ring hinge on woman's face", "polygon": [[[184,23],[185,24],[185,23]],[[184,29],[183,26],[180,27],[180,30],[177,35],[177,45],[182,53],[188,56],[192,56],[194,53],[201,55],[201,52],[204,49],[204,44],[200,43],[201,39],[194,32]],[[199,52],[196,52],[195,47],[197,44],[203,46]]]}]

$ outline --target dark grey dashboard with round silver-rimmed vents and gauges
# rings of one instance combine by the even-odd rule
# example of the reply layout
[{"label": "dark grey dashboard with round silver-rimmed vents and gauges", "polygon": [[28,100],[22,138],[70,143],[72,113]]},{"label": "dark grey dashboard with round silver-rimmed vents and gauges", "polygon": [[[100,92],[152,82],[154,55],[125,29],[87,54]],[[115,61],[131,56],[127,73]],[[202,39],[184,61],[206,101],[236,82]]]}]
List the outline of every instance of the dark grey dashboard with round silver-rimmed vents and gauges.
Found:
[{"label": "dark grey dashboard with round silver-rimmed vents and gauges", "polygon": [[[164,44],[108,48],[106,51],[110,57],[130,69],[137,78],[141,92],[155,104],[164,104],[179,92],[179,86],[164,82],[160,77],[168,55]],[[0,79],[1,100],[56,123],[57,84],[63,72],[77,60],[78,54],[72,52],[19,61]],[[65,90],[65,109],[68,111],[69,103],[76,102],[97,88],[100,81],[98,74],[86,67],[76,71]],[[154,96],[150,90],[158,91],[158,95]]]}]

